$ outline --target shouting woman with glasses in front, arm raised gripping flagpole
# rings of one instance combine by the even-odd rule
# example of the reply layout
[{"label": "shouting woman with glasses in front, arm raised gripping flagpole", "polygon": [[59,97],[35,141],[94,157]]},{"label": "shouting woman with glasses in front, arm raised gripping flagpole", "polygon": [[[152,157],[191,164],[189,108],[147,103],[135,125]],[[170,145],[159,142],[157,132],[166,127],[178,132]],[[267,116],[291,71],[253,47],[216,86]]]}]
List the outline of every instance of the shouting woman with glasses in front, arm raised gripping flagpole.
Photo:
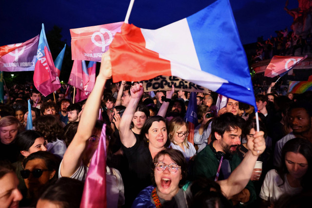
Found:
[{"label": "shouting woman with glasses in front, arm raised gripping flagpole", "polygon": [[231,207],[225,197],[231,199],[245,188],[258,155],[265,149],[264,139],[256,138],[249,143],[256,149],[248,153],[248,158],[243,159],[229,178],[209,183],[202,178],[187,181],[187,163],[181,151],[159,151],[151,169],[153,186],[137,195],[132,208]]}]

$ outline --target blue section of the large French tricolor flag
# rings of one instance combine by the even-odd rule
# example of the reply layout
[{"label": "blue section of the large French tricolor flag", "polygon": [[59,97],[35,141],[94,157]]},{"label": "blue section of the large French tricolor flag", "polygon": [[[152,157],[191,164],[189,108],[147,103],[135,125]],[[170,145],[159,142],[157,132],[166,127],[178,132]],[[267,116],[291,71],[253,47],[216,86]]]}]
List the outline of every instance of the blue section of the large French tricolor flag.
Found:
[{"label": "blue section of the large French tricolor flag", "polygon": [[201,70],[229,82],[217,93],[256,108],[247,57],[229,0],[215,1],[187,22]]}]

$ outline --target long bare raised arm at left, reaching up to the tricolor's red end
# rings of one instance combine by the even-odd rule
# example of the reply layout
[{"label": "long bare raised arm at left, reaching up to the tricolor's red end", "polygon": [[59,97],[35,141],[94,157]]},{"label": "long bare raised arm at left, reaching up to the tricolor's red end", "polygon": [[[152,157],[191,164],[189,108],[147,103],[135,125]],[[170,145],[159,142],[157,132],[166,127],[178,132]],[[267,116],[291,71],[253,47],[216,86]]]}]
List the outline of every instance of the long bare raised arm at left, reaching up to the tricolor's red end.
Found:
[{"label": "long bare raised arm at left, reaching up to the tricolor's red end", "polygon": [[105,68],[104,55],[102,57],[102,64],[100,66],[100,71],[94,88],[90,93],[81,113],[77,133],[64,154],[63,161],[60,166],[60,174],[62,177],[72,176],[80,166],[86,142],[90,138],[98,119],[98,109],[101,103],[101,96],[104,92],[105,82],[106,79],[109,79],[112,76],[112,70]]}]

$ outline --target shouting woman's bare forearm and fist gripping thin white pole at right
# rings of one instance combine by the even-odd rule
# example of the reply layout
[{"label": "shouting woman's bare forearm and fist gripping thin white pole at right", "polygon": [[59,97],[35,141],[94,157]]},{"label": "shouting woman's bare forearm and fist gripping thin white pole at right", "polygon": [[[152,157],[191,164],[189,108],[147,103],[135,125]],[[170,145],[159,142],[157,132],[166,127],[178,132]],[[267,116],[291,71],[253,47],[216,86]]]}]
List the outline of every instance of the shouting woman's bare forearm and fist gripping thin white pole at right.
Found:
[{"label": "shouting woman's bare forearm and fist gripping thin white pole at right", "polygon": [[249,151],[246,153],[242,162],[231,173],[228,179],[217,181],[223,194],[231,199],[232,196],[243,190],[252,176],[255,162],[258,156],[265,150],[264,132],[256,132],[254,139],[247,141]]}]

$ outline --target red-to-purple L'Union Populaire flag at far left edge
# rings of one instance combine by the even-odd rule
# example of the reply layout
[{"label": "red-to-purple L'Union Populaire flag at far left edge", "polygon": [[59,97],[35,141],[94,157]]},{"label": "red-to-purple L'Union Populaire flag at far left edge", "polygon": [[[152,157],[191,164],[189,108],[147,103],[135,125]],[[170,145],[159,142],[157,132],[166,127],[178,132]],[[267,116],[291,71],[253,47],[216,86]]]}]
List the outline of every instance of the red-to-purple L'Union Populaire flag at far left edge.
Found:
[{"label": "red-to-purple L'Union Populaire flag at far left edge", "polygon": [[38,43],[39,35],[23,43],[1,46],[0,71],[34,71]]}]

